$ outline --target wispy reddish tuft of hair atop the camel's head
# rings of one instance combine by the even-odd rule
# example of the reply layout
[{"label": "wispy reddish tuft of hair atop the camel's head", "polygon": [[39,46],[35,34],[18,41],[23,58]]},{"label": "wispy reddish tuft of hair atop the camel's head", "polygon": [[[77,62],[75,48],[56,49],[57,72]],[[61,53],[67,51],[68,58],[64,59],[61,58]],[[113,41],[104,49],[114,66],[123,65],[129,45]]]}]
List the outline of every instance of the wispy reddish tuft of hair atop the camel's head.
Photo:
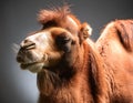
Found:
[{"label": "wispy reddish tuft of hair atop the camel's head", "polygon": [[48,10],[41,10],[38,16],[38,20],[40,23],[47,23],[49,21],[59,21],[64,19],[68,14],[70,14],[70,7],[63,6],[62,8],[52,8]]}]

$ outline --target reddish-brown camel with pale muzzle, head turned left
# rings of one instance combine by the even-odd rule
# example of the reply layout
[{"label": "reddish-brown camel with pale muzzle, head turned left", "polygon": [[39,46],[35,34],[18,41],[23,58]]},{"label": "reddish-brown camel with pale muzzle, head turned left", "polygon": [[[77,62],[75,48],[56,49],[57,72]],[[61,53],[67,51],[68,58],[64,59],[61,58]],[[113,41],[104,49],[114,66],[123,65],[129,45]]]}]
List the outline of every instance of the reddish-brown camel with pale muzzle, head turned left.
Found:
[{"label": "reddish-brown camel with pale muzzle, head turned left", "polygon": [[38,103],[133,103],[133,20],[110,22],[96,42],[68,6],[41,10],[38,21],[17,55],[37,73]]}]

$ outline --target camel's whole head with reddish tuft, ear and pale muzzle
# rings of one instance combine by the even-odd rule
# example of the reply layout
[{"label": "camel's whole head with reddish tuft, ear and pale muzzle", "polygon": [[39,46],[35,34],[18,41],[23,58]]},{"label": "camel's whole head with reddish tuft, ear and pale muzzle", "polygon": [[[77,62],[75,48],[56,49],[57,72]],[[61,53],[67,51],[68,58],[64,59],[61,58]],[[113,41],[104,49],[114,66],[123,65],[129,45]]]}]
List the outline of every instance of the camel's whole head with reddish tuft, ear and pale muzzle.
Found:
[{"label": "camel's whole head with reddish tuft, ear and pale muzzle", "polygon": [[17,55],[20,66],[34,73],[66,63],[71,66],[91,34],[90,25],[81,24],[68,6],[41,10],[38,20],[42,29],[20,43]]}]

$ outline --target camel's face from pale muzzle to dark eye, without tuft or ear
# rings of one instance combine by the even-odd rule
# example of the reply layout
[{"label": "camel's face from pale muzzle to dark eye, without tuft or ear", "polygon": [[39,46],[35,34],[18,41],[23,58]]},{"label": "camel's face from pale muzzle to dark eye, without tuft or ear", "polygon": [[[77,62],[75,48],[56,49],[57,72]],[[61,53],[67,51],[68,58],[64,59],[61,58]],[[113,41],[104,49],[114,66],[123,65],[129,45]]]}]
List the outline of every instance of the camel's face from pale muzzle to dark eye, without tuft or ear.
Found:
[{"label": "camel's face from pale muzzle to dark eye, without tuft or ear", "polygon": [[74,37],[65,29],[45,29],[21,42],[17,60],[22,69],[39,72],[57,65],[64,53],[71,52],[74,42]]}]

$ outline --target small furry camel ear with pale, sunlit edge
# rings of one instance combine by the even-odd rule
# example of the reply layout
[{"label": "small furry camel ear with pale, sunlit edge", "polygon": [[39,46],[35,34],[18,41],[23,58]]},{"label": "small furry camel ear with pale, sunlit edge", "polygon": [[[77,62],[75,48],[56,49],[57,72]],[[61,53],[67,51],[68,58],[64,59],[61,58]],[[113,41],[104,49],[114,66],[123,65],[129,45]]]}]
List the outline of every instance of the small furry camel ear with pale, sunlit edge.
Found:
[{"label": "small furry camel ear with pale, sunlit edge", "polygon": [[92,34],[92,28],[86,22],[84,22],[81,25],[80,34],[79,34],[81,42],[86,40],[91,34]]}]

